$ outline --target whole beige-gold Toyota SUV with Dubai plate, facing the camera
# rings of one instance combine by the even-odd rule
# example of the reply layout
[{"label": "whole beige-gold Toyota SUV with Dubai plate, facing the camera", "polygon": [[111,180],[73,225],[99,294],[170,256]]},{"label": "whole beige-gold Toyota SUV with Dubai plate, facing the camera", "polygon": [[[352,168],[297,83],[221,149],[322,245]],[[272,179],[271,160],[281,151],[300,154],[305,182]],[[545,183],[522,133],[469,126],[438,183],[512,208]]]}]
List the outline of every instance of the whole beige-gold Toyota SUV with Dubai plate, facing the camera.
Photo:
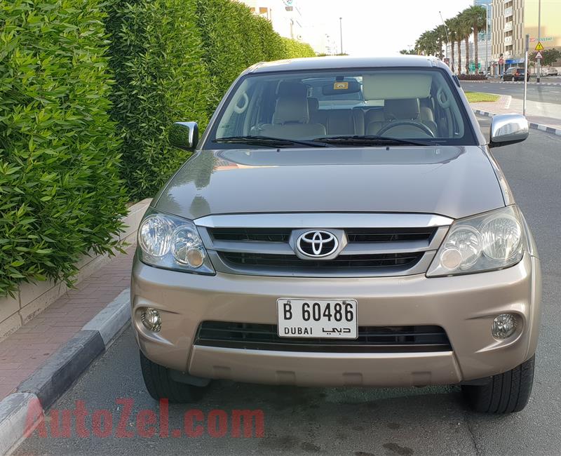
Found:
[{"label": "whole beige-gold Toyota SUV with Dubai plate, facing the camera", "polygon": [[[212,379],[461,386],[482,413],[532,391],[541,273],[489,141],[436,58],[259,63],[170,128],[194,151],[138,230],[130,302],[147,390]],[[259,391],[259,390],[256,390]]]}]

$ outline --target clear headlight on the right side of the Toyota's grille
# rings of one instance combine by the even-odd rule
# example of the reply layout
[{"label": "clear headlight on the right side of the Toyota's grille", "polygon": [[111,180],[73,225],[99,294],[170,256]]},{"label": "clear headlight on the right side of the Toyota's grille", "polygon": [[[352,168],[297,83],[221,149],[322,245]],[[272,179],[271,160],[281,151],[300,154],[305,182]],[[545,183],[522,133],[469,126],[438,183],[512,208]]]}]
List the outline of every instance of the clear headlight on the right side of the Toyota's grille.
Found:
[{"label": "clear headlight on the right side of the Toyota's grille", "polygon": [[525,237],[518,208],[507,206],[457,220],[427,276],[450,276],[512,266],[522,259]]}]

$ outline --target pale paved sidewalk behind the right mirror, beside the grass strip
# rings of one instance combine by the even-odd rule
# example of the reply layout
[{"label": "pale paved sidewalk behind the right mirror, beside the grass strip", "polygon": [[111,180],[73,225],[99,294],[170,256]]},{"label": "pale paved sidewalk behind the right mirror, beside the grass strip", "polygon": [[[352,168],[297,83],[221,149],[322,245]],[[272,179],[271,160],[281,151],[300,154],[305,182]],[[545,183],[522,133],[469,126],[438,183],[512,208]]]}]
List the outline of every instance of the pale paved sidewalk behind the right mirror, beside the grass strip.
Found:
[{"label": "pale paved sidewalk behind the right mirror, beside the grass strip", "polygon": [[[492,112],[493,114],[522,114],[523,102],[510,95],[501,95],[496,102],[470,103],[473,110]],[[551,128],[561,129],[561,105],[527,100],[526,118],[529,122]]]}]

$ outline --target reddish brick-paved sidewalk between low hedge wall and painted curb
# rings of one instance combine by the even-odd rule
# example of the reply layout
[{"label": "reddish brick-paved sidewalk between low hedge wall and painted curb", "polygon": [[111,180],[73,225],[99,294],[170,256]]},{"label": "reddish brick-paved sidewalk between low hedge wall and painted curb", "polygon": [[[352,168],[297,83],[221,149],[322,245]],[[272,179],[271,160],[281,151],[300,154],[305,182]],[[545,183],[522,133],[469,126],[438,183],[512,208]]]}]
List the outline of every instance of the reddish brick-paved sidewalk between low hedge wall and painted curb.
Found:
[{"label": "reddish brick-paved sidewalk between low hedge wall and painted curb", "polygon": [[0,342],[0,400],[15,390],[93,316],[130,286],[135,245]]}]

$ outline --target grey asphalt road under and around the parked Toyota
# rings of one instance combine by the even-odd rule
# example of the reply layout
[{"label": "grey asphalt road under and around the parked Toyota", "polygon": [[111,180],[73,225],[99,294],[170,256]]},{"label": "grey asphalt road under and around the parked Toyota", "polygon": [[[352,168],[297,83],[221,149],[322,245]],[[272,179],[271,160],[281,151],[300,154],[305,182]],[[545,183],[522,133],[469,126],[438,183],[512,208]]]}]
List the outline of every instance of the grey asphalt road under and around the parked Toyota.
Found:
[{"label": "grey asphalt road under and around the parked Toyota", "polygon": [[[482,119],[485,130],[488,123]],[[135,417],[140,410],[158,413],[158,405],[144,389],[137,347],[128,328],[54,406],[74,410],[76,401],[84,401],[90,414],[87,425],[93,410],[107,409],[97,412],[97,417],[113,414],[112,434],[99,436],[103,430],[99,420],[98,436],[80,437],[76,429],[69,438],[41,437],[36,432],[15,454],[559,455],[561,138],[531,130],[526,142],[495,150],[532,227],[543,267],[543,320],[536,379],[531,401],[522,413],[471,413],[455,387],[339,389],[215,382],[196,405],[170,405],[170,436],[119,437],[116,428],[126,407],[116,404],[118,398],[134,401],[121,434],[137,429]],[[201,410],[201,417],[215,417],[216,412],[213,415],[211,410],[221,409],[227,420],[231,410],[260,409],[264,413],[264,436],[221,437],[203,420],[203,436],[182,433],[182,437],[174,438],[173,430],[182,428],[183,415],[189,408]],[[143,414],[145,417],[149,412]],[[53,422],[51,415],[51,431]]]}]

